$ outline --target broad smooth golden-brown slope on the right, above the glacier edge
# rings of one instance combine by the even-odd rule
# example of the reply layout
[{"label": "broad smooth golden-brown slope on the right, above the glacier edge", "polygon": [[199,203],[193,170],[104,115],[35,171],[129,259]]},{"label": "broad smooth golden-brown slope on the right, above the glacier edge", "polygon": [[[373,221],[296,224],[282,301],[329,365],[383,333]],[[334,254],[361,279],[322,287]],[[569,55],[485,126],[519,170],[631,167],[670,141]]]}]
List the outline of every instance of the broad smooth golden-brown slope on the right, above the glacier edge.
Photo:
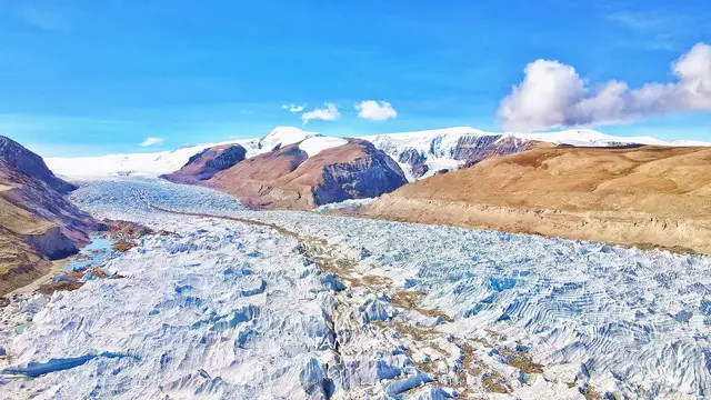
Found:
[{"label": "broad smooth golden-brown slope on the right, above the glacier edge", "polygon": [[711,149],[534,149],[407,184],[363,212],[711,253]]}]

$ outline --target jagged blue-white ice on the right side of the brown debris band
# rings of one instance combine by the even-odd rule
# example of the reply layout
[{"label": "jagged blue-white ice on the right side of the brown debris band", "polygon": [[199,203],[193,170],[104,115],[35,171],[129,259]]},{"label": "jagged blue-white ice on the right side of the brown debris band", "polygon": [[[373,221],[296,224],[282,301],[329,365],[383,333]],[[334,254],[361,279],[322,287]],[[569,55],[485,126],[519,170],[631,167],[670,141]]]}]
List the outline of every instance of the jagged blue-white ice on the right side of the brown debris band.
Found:
[{"label": "jagged blue-white ice on the right side of the brown debris band", "polygon": [[453,320],[443,332],[493,329],[610,391],[711,393],[709,257],[303,212],[253,217],[364,248],[364,263]]}]

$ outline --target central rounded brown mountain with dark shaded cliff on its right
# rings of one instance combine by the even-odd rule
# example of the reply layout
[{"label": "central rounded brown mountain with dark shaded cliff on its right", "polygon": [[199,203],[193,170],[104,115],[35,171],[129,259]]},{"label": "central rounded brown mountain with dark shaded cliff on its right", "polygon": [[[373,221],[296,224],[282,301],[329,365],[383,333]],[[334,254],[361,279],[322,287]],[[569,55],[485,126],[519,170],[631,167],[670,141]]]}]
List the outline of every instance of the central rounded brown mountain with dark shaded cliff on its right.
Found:
[{"label": "central rounded brown mountain with dark shaded cliff on its right", "polygon": [[310,210],[377,197],[405,182],[384,152],[368,141],[349,139],[312,157],[299,143],[281,147],[218,172],[207,184],[253,208]]}]

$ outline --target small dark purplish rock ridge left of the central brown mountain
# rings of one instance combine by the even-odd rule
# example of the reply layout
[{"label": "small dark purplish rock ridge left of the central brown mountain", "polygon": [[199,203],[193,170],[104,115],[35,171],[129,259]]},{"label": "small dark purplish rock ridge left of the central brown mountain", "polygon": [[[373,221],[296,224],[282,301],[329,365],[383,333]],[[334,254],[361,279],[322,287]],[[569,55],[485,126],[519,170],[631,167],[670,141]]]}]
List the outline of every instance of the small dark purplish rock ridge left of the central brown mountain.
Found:
[{"label": "small dark purplish rock ridge left of the central brown mountain", "polygon": [[247,150],[240,144],[223,144],[192,156],[178,171],[160,176],[176,183],[197,183],[244,160]]}]

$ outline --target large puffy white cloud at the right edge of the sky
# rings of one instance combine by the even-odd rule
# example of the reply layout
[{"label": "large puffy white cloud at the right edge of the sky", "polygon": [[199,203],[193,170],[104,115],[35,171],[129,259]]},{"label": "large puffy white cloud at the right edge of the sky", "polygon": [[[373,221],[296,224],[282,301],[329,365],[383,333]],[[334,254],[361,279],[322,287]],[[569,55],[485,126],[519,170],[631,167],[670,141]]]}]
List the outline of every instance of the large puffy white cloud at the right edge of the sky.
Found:
[{"label": "large puffy white cloud at the right edge of the sky", "polygon": [[711,111],[711,46],[695,44],[672,63],[672,72],[673,82],[630,89],[613,80],[590,89],[573,67],[535,60],[525,67],[523,81],[501,101],[499,118],[507,129],[541,130]]}]

